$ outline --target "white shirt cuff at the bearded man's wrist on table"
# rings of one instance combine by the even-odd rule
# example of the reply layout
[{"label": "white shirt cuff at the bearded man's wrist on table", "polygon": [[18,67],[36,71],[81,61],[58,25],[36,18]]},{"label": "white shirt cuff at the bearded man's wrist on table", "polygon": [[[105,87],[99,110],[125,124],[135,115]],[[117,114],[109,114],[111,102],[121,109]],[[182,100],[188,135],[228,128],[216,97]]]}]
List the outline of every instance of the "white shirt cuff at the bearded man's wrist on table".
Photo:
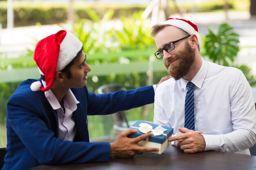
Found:
[{"label": "white shirt cuff at the bearded man's wrist on table", "polygon": [[205,135],[202,134],[202,136],[204,137],[204,141],[205,141],[205,149],[204,151],[207,150],[219,150],[220,148],[220,137],[218,135]]}]

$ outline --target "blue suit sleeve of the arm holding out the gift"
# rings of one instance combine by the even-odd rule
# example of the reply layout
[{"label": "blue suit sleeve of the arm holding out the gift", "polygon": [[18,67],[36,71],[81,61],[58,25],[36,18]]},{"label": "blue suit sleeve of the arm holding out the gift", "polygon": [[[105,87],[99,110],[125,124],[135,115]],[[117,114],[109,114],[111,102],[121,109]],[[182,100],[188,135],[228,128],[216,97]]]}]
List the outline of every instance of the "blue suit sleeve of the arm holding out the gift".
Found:
[{"label": "blue suit sleeve of the arm holding out the gift", "polygon": [[[42,114],[43,104],[37,104],[25,95],[14,95],[7,104],[7,120],[12,134],[12,148],[25,145],[41,164],[77,164],[109,161],[110,144],[63,141],[54,132]],[[43,107],[43,106],[42,106]],[[52,113],[51,113],[52,114]],[[18,140],[21,140],[19,142]],[[18,152],[18,151],[17,151]]]}]

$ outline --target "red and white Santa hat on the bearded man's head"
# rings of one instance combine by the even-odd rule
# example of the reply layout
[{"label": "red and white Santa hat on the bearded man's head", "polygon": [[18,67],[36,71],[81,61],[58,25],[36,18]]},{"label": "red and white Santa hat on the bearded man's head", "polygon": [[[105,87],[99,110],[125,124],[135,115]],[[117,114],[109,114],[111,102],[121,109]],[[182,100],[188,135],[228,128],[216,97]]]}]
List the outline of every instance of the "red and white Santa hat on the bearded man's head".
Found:
[{"label": "red and white Santa hat on the bearded man's head", "polygon": [[202,47],[202,39],[201,36],[198,33],[198,27],[193,24],[192,22],[188,20],[178,19],[178,18],[168,18],[163,25],[171,25],[176,26],[177,28],[182,29],[183,31],[186,31],[189,35],[195,34],[198,38],[198,48],[199,51],[201,51]]}]

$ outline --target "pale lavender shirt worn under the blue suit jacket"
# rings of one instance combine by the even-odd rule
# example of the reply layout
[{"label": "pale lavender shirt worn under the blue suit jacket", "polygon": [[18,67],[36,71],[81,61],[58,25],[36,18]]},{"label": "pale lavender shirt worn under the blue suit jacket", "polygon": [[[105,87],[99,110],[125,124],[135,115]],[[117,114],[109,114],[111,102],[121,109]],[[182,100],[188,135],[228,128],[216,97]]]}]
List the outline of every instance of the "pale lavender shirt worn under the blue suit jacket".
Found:
[{"label": "pale lavender shirt worn under the blue suit jacket", "polygon": [[[45,86],[45,81],[42,80],[42,83]],[[79,101],[76,100],[76,97],[72,91],[69,90],[64,96],[64,113],[63,108],[61,108],[61,105],[59,104],[54,93],[52,93],[51,89],[45,92],[45,97],[58,114],[59,138],[67,141],[73,141],[77,131],[73,112],[77,109],[76,104],[79,104]]]}]

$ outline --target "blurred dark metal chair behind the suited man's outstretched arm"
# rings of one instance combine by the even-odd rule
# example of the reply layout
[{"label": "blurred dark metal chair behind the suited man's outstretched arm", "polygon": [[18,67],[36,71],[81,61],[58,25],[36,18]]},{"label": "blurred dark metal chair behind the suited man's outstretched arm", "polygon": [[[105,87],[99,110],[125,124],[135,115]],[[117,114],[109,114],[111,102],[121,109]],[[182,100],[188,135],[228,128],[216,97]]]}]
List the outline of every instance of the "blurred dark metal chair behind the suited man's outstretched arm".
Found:
[{"label": "blurred dark metal chair behind the suited man's outstretched arm", "polygon": [[[106,84],[100,86],[98,88],[98,93],[111,93],[119,90],[130,90],[134,89],[134,86],[125,86],[124,84]],[[113,121],[115,122],[114,128],[114,135],[119,135],[120,132],[126,130],[130,127],[129,121],[127,120],[126,114],[124,111],[117,112],[111,115]]]}]

